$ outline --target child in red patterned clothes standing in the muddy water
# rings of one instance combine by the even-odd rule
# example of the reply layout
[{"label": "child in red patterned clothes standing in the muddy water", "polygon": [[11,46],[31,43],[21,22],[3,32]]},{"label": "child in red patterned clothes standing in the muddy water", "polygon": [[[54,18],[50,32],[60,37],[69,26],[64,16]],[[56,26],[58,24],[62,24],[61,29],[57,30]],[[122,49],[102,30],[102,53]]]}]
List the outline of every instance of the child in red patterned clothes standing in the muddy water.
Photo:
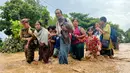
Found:
[{"label": "child in red patterned clothes standing in the muddy water", "polygon": [[86,46],[87,46],[87,53],[86,58],[91,57],[92,54],[94,58],[97,58],[97,55],[100,55],[101,50],[101,43],[99,39],[93,35],[93,28],[88,28],[88,37],[86,37]]}]

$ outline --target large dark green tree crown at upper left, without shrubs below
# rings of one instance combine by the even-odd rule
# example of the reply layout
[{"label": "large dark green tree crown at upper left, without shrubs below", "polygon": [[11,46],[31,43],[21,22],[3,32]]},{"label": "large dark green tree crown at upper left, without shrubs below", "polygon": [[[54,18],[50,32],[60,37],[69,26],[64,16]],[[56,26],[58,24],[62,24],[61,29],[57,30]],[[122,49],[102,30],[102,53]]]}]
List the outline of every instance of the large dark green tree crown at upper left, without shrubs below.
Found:
[{"label": "large dark green tree crown at upper left, without shrubs below", "polygon": [[10,0],[0,10],[0,31],[5,30],[7,35],[12,34],[10,20],[29,18],[31,26],[34,26],[37,20],[47,24],[49,19],[47,7],[40,5],[39,0]]}]

